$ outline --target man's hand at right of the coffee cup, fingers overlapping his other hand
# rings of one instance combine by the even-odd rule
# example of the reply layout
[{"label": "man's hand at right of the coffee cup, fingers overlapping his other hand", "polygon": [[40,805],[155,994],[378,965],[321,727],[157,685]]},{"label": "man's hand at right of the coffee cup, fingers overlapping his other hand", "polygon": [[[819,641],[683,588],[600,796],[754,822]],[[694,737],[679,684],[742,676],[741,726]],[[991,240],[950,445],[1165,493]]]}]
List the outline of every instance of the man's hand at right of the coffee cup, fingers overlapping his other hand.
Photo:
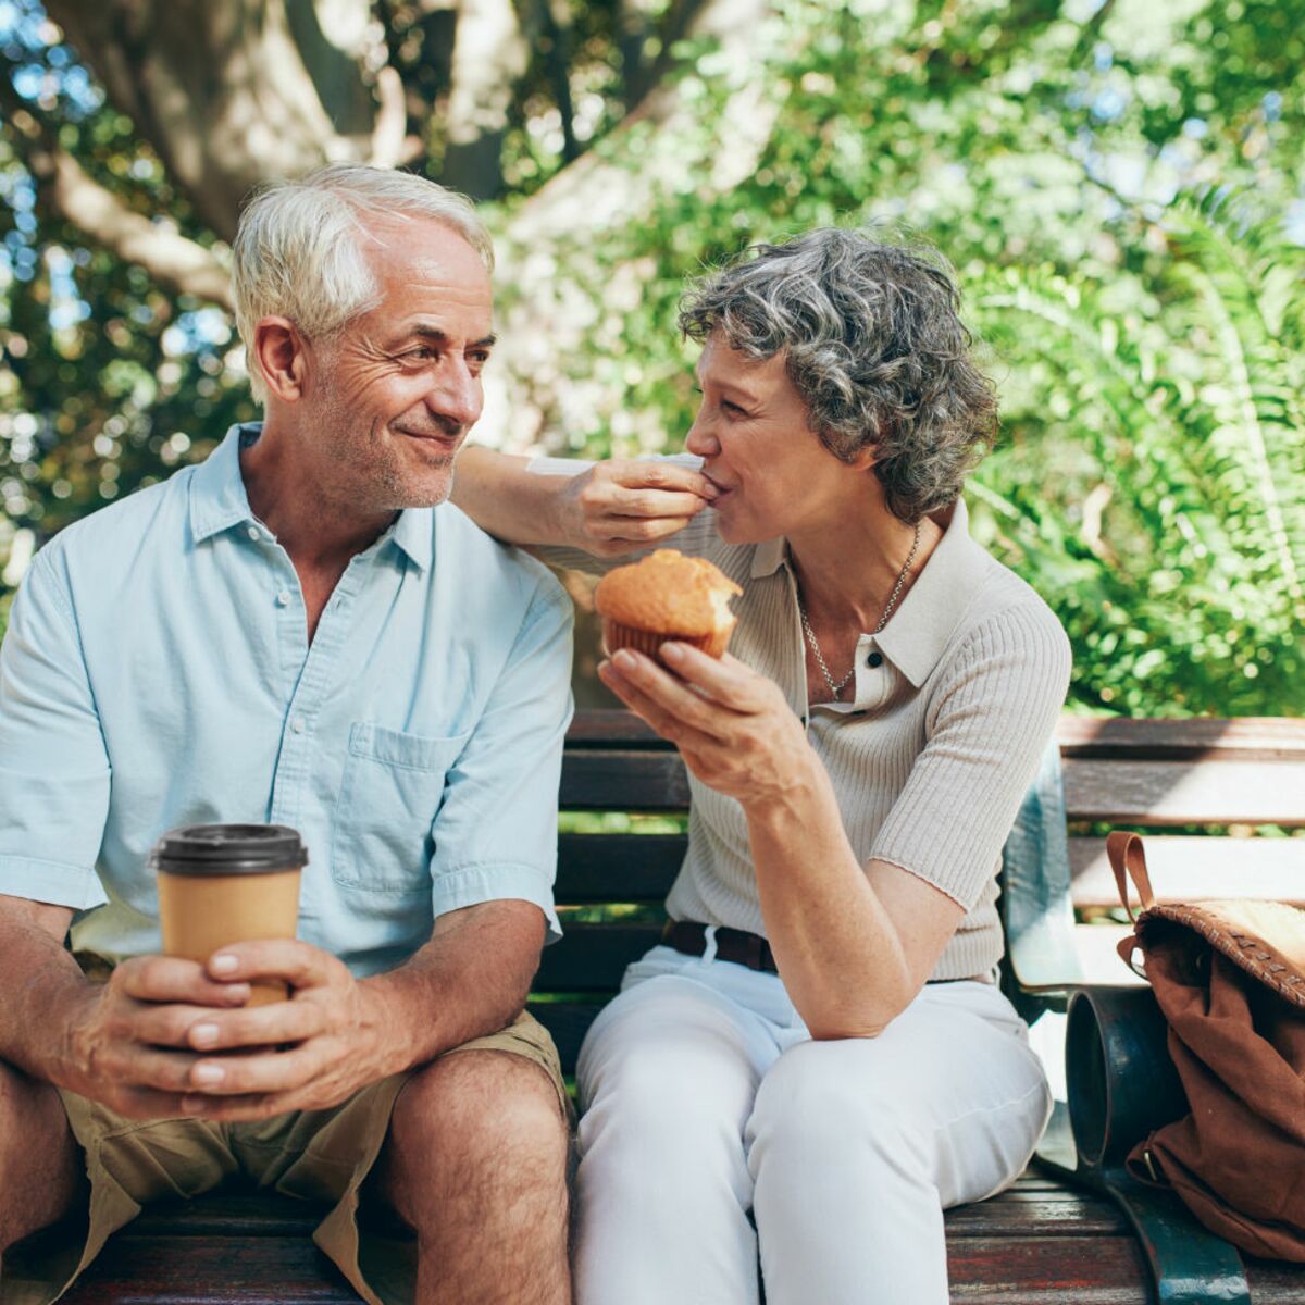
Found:
[{"label": "man's hand at right of the coffee cup, fingers overlapping his other hand", "polygon": [[318,947],[241,942],[214,953],[207,970],[223,984],[281,979],[291,996],[191,1021],[187,1044],[204,1054],[189,1066],[180,1113],[236,1121],[322,1109],[402,1067],[376,1002]]}]

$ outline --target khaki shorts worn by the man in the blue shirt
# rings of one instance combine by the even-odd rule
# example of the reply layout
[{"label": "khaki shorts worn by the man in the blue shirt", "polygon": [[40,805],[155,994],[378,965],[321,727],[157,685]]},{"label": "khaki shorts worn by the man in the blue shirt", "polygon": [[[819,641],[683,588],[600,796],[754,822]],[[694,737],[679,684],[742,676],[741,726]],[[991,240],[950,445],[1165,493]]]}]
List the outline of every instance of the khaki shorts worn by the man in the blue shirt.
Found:
[{"label": "khaki shorts worn by the man in the blue shirt", "polygon": [[[539,1065],[557,1087],[562,1114],[570,1101],[557,1051],[548,1031],[522,1013],[497,1034],[476,1037],[446,1056],[499,1051]],[[256,1124],[206,1120],[128,1120],[116,1112],[60,1091],[73,1135],[86,1154],[90,1208],[85,1236],[42,1235],[5,1255],[0,1305],[50,1305],[77,1280],[108,1237],[151,1201],[197,1197],[224,1178],[244,1174],[266,1190],[331,1208],[313,1241],[339,1266],[369,1305],[410,1305],[415,1244],[359,1227],[359,1188],[380,1155],[390,1112],[408,1070],[372,1083],[326,1111],[296,1111]]]}]

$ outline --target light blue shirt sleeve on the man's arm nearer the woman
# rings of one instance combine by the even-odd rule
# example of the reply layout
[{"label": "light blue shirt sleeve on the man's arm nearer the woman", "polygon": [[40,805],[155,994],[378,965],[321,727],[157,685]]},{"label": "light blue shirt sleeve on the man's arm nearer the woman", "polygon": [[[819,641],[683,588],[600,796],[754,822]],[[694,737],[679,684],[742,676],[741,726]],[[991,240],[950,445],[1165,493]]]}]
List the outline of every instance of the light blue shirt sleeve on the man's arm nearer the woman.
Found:
[{"label": "light blue shirt sleeve on the man's arm nearer the woman", "polygon": [[435,915],[506,898],[553,907],[557,787],[570,723],[570,599],[545,573],[476,728],[448,776],[433,826]]}]

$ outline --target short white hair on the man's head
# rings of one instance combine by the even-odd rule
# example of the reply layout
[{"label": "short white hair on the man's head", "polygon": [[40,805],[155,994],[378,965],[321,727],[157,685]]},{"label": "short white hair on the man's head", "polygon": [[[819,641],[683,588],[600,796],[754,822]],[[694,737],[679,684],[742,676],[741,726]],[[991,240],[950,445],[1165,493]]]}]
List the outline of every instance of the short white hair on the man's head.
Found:
[{"label": "short white hair on the man's head", "polygon": [[240,214],[231,247],[236,328],[256,399],[268,397],[253,359],[260,318],[288,317],[320,339],[380,301],[363,241],[371,239],[371,219],[381,217],[442,222],[493,270],[493,244],[471,201],[412,172],[331,163],[264,187]]}]

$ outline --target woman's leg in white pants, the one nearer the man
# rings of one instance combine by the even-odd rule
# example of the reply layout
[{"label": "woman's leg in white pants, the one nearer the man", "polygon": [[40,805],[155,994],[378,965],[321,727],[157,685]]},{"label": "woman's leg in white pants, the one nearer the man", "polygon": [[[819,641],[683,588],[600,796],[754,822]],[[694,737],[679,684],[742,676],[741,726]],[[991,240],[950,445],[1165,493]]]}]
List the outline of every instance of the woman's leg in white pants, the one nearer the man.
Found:
[{"label": "woman's leg in white pants, the one nearer the man", "polygon": [[756,1305],[743,1130],[776,1054],[692,979],[645,979],[603,1011],[578,1066],[578,1305]]}]

